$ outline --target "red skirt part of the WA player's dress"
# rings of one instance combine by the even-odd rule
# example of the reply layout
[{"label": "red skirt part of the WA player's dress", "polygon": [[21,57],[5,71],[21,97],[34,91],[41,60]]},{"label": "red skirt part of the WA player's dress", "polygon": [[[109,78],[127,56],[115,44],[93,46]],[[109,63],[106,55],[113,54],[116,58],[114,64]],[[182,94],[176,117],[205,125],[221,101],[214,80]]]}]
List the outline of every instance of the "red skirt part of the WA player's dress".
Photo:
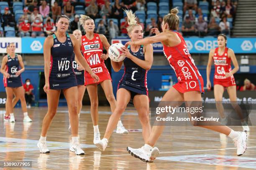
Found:
[{"label": "red skirt part of the WA player's dress", "polygon": [[[112,81],[110,73],[108,72],[107,67],[106,66],[104,67],[104,66],[92,68],[92,71],[97,76],[99,76],[99,78],[100,78],[100,80],[99,80],[99,82],[97,82],[97,84],[99,84],[100,82],[102,82],[104,80],[111,80]],[[89,74],[89,72],[85,71],[84,72],[84,85],[86,86],[86,85],[90,85],[90,84],[95,84],[94,79]]]}]

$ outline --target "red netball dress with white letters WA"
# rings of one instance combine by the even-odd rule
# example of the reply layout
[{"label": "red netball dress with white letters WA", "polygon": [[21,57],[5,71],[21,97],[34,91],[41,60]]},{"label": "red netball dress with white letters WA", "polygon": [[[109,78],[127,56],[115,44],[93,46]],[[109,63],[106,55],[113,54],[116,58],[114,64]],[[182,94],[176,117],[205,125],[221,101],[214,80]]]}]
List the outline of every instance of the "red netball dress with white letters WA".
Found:
[{"label": "red netball dress with white letters WA", "polygon": [[[81,50],[85,60],[91,67],[92,72],[99,76],[100,81],[98,83],[104,80],[112,81],[108,69],[105,66],[104,60],[100,59],[100,55],[103,54],[103,45],[99,34],[95,33],[92,40],[89,40],[85,35],[82,36]],[[84,71],[84,85],[94,83],[94,79],[91,77],[91,75],[87,71]]]}]

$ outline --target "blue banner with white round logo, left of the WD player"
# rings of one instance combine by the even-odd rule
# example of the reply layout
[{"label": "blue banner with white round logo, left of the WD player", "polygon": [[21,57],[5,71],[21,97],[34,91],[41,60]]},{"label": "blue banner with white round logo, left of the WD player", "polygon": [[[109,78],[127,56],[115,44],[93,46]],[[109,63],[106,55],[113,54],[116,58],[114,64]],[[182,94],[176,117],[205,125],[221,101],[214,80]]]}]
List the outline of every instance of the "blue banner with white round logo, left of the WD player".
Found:
[{"label": "blue banner with white round logo, left of the WD player", "polygon": [[44,53],[44,40],[45,37],[29,38],[24,37],[21,39],[22,53]]}]

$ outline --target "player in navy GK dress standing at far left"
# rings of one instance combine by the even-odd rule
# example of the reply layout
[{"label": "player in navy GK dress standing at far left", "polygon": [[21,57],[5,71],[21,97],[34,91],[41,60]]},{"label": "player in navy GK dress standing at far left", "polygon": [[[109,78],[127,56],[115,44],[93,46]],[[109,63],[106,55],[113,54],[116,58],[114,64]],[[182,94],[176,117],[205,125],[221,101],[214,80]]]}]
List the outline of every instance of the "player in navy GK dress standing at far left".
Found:
[{"label": "player in navy GK dress standing at far left", "polygon": [[[23,122],[32,122],[31,118],[28,116],[25,93],[20,76],[21,72],[25,70],[22,57],[15,54],[16,47],[14,43],[10,43],[7,48],[8,54],[3,57],[0,69],[1,73],[4,75],[4,87],[7,95],[5,103],[6,112],[10,113],[10,122],[15,122],[12,104],[13,94],[15,94],[17,99],[20,99],[21,102],[24,115]],[[6,70],[4,70],[5,66]]]}]

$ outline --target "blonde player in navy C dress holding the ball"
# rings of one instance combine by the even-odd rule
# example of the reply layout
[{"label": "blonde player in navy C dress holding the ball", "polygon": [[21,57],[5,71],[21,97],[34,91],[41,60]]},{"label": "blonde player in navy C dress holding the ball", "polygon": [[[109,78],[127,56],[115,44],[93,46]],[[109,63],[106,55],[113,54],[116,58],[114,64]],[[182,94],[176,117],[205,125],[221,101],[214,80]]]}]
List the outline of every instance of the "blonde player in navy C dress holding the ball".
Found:
[{"label": "blonde player in navy C dress holding the ball", "polygon": [[[125,10],[128,17],[128,35],[131,41],[138,41],[143,38],[143,29],[137,24],[136,16],[131,10]],[[149,101],[147,88],[147,72],[153,63],[153,47],[147,45],[129,45],[128,48],[122,48],[122,55],[126,58],[121,62],[111,61],[113,69],[117,72],[124,64],[124,74],[118,84],[116,94],[117,105],[115,111],[108,120],[107,129],[104,138],[96,143],[100,150],[105,150],[108,145],[108,140],[118,123],[119,117],[125,111],[125,108],[130,100],[133,100],[134,107],[138,112],[139,119],[142,125],[142,135],[144,141],[148,140],[151,126],[149,123]]]}]

